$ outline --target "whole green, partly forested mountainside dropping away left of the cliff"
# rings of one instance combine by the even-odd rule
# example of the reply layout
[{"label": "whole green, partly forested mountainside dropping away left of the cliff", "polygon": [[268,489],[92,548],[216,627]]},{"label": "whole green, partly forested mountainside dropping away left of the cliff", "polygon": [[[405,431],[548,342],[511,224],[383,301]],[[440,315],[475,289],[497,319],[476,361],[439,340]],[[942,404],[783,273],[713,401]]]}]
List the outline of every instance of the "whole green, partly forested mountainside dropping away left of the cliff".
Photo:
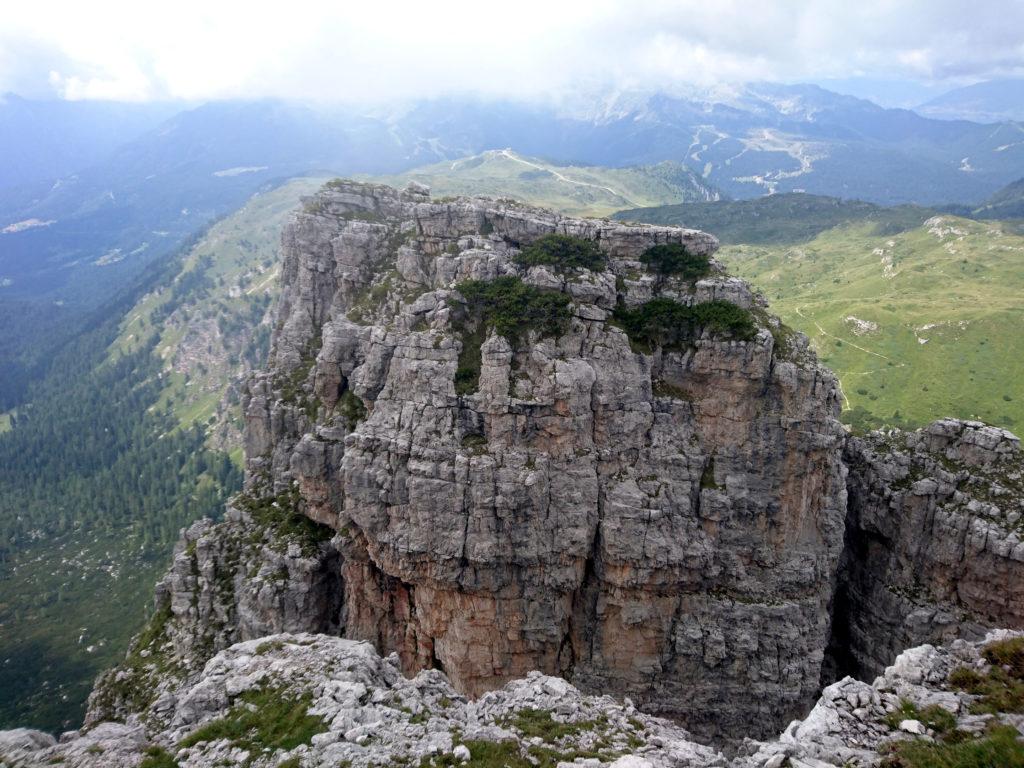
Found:
[{"label": "whole green, partly forested mountainside dropping away left of the cliff", "polygon": [[179,529],[240,487],[238,402],[269,347],[281,230],[322,183],[266,187],[154,264],[0,417],[0,723],[76,726]]}]

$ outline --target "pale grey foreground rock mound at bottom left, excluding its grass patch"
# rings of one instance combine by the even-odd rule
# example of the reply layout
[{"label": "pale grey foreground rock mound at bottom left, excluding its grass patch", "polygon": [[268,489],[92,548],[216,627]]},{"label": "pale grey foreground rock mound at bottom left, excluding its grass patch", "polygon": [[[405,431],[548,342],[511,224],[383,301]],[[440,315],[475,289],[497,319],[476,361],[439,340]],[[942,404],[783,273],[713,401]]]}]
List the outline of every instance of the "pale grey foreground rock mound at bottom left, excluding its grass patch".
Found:
[{"label": "pale grey foreground rock mound at bottom left, excluding its grass patch", "polygon": [[[247,705],[258,711],[254,693],[263,693],[263,701],[297,702],[314,720],[311,738],[266,753],[241,739],[198,738]],[[325,635],[283,634],[232,645],[207,664],[200,681],[169,690],[166,700],[162,716],[144,725],[102,723],[69,733],[60,743],[43,734],[33,738],[34,732],[0,732],[0,761],[16,756],[24,766],[135,766],[143,749],[159,748],[181,768],[268,768],[290,759],[307,767],[366,768],[420,765],[424,758],[467,751],[472,757],[486,741],[504,742],[517,759],[534,750],[566,763],[577,754],[600,755],[605,765],[620,768],[633,765],[615,762],[627,754],[646,765],[725,765],[716,750],[694,743],[679,726],[629,702],[585,696],[558,678],[532,673],[468,701],[435,670],[406,678],[397,656],[381,658],[369,643]],[[545,723],[562,733],[545,733]],[[93,754],[110,762],[89,762]]]}]

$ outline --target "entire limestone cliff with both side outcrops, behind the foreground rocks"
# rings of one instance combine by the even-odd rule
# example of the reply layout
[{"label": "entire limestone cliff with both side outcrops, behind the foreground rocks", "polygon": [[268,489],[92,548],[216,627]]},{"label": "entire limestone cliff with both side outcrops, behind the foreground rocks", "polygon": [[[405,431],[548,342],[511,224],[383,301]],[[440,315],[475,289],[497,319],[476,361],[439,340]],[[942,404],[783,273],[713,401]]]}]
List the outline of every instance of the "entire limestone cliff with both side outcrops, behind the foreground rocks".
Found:
[{"label": "entire limestone cliff with both side outcrops, behind the foreground rocks", "polygon": [[[553,233],[599,263],[524,263]],[[717,247],[416,186],[308,199],[245,402],[247,489],[185,532],[87,722],[167,727],[214,654],[305,632],[470,696],[540,671],[701,738],[767,736],[837,671],[1024,626],[1016,438],[848,438],[807,340],[714,260],[653,270],[667,244]],[[539,302],[474,317],[497,285]],[[753,325],[650,343],[624,317],[653,305]]]}]

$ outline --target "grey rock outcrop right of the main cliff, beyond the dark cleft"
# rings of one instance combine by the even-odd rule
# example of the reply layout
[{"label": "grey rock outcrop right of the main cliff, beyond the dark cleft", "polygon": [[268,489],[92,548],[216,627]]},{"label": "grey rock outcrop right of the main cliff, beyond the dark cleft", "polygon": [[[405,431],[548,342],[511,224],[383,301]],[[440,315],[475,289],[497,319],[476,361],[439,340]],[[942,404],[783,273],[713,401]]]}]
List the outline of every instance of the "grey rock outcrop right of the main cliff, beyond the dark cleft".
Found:
[{"label": "grey rock outcrop right of the main cliff, beyond the dark cleft", "polygon": [[1024,628],[1024,457],[980,422],[847,441],[847,547],[833,646],[870,677],[904,648]]}]

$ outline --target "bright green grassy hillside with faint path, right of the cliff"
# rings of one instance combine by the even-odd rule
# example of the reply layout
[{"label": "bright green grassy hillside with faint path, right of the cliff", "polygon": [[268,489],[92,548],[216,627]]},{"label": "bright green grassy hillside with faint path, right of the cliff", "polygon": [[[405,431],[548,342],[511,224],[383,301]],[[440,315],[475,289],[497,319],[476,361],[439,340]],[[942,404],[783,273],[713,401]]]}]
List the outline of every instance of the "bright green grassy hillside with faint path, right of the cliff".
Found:
[{"label": "bright green grassy hillside with faint path, right of the cliff", "polygon": [[1024,238],[952,216],[873,232],[846,225],[720,257],[811,338],[854,426],[942,416],[1024,425]]}]

